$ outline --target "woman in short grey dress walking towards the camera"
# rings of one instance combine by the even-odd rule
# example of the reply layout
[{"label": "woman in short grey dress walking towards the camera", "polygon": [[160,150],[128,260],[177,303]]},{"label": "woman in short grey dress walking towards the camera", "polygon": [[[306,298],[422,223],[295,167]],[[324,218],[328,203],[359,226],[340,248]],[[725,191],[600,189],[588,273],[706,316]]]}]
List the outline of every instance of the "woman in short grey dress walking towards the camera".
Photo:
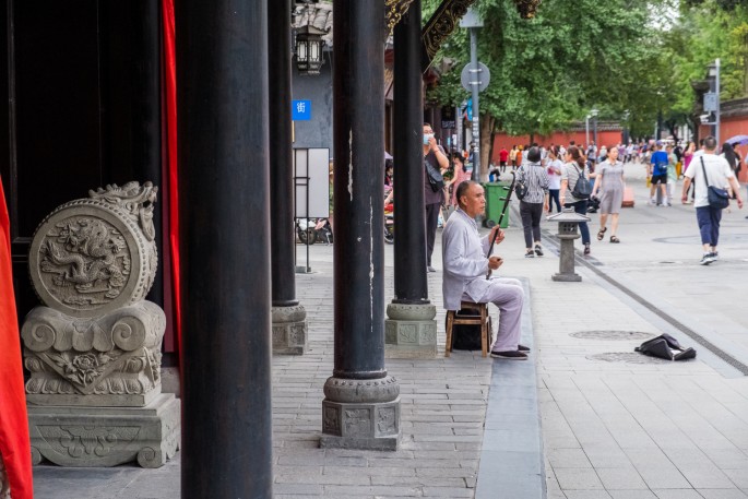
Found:
[{"label": "woman in short grey dress walking towards the camera", "polygon": [[610,216],[610,242],[618,243],[618,216],[624,204],[624,163],[618,161],[618,148],[612,147],[608,158],[597,167],[595,186],[592,188],[592,195],[599,199],[599,230],[597,240],[602,241],[607,230],[607,221]]}]

